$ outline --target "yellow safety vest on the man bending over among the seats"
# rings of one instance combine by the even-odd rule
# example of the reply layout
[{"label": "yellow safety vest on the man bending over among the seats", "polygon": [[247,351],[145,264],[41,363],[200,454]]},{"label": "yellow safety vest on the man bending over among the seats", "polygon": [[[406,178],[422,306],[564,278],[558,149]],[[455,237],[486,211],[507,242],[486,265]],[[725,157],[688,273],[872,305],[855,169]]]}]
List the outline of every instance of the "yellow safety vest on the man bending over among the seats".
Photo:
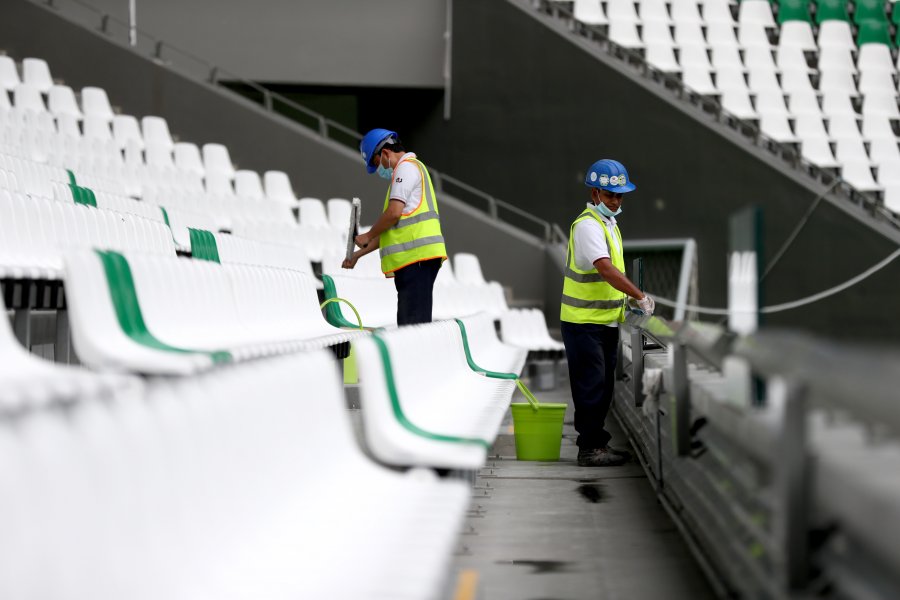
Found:
[{"label": "yellow safety vest on the man bending over among the seats", "polygon": [[[419,168],[422,176],[422,198],[414,211],[401,216],[397,224],[383,232],[379,238],[381,271],[386,277],[393,277],[394,271],[423,260],[447,259],[437,198],[428,169],[415,158],[406,158],[401,162],[407,160]],[[397,163],[397,166],[400,166],[400,163]],[[396,167],[394,169],[396,170]],[[388,187],[384,197],[384,210],[387,210],[390,201],[391,188]]]}]

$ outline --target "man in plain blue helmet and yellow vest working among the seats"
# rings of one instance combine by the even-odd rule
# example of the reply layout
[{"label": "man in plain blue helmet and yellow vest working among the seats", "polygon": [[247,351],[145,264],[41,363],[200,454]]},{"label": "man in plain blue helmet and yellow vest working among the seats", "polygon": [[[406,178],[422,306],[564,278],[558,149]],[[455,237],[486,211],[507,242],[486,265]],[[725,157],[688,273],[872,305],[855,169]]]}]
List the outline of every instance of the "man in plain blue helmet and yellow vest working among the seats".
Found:
[{"label": "man in plain blue helmet and yellow vest working among the seats", "polygon": [[428,169],[407,152],[395,131],[373,129],[359,145],[371,175],[390,181],[384,212],[372,228],[356,236],[359,250],[344,261],[352,269],[361,256],[378,249],[381,271],[394,278],[397,324],[431,322],[434,280],[447,259],[437,196]]}]

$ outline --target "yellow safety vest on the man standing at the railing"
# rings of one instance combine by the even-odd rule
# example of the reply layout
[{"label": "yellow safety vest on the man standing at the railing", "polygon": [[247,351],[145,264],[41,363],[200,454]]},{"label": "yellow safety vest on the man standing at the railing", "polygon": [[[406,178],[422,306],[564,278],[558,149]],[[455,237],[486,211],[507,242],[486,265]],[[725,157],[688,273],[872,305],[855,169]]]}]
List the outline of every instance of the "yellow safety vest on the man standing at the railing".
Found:
[{"label": "yellow safety vest on the man standing at the railing", "polygon": [[[559,318],[568,323],[621,323],[625,320],[625,293],[606,283],[596,268],[582,271],[575,264],[575,226],[586,219],[595,219],[600,223],[613,266],[625,272],[619,226],[616,225],[610,232],[600,217],[592,209],[586,208],[569,229],[569,250],[566,254],[566,275]],[[613,243],[613,234],[618,244]]]}]

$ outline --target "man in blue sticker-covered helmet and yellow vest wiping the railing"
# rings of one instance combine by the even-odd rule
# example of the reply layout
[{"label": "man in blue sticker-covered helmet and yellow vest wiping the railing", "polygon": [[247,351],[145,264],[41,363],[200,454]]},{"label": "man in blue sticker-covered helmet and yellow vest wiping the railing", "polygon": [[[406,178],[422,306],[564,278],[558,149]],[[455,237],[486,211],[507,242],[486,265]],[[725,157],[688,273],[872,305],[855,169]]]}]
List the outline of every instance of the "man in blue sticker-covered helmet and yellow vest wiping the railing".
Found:
[{"label": "man in blue sticker-covered helmet and yellow vest wiping the railing", "polygon": [[653,299],[625,276],[616,215],[622,195],[635,189],[622,163],[603,159],[588,169],[591,201],[572,223],[560,320],[575,404],[578,464],[621,465],[630,454],[609,445],[606,416],[613,400],[619,323],[626,304],[653,314]]}]

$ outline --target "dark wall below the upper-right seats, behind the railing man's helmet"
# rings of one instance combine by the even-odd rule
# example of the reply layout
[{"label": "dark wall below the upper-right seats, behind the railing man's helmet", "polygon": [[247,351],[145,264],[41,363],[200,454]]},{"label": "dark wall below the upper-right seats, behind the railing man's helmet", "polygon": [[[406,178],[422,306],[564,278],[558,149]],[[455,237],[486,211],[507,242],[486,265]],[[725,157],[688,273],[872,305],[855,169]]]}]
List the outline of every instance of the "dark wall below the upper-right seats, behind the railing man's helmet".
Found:
[{"label": "dark wall below the upper-right seats, behind the railing man's helmet", "polygon": [[[452,118],[433,118],[407,137],[437,168],[564,228],[588,200],[586,168],[599,158],[621,160],[637,184],[620,218],[626,238],[696,239],[701,303],[725,306],[729,216],[762,206],[768,258],[813,201],[808,180],[762,150],[748,152],[738,134],[658,95],[522,5],[455,0]],[[818,292],[890,254],[900,236],[869,223],[846,202],[823,202],[766,280],[765,302]],[[873,307],[898,305],[900,261],[767,322],[900,340],[900,319],[872,319]]]}]

